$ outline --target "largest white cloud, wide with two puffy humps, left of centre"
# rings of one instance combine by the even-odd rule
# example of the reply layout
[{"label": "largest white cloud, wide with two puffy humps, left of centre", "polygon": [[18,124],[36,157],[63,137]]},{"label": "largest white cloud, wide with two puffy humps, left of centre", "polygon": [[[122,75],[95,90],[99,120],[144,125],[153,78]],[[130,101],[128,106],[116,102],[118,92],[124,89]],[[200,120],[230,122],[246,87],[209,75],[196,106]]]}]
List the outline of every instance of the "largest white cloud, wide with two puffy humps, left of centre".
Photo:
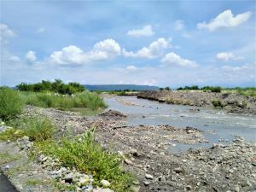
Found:
[{"label": "largest white cloud, wide with two puffy humps, left of centre", "polygon": [[108,38],[96,43],[89,52],[84,52],[74,45],[69,45],[60,51],[55,51],[49,57],[50,61],[60,65],[82,65],[90,61],[108,60],[120,55],[120,53],[119,44]]}]

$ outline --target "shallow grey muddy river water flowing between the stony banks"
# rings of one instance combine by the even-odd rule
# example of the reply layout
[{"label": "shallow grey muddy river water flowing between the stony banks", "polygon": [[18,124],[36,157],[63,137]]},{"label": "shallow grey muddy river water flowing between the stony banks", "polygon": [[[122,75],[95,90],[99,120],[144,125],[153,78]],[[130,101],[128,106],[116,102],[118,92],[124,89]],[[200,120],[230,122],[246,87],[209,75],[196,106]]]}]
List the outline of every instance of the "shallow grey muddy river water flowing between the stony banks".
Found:
[{"label": "shallow grey muddy river water flowing between the stony banks", "polygon": [[212,143],[230,142],[235,136],[247,142],[256,142],[256,117],[227,114],[221,110],[172,105],[137,99],[136,96],[106,97],[108,108],[128,114],[128,125],[175,125],[192,126],[204,131],[210,143],[195,145],[177,144],[172,151],[188,148],[209,147]]}]

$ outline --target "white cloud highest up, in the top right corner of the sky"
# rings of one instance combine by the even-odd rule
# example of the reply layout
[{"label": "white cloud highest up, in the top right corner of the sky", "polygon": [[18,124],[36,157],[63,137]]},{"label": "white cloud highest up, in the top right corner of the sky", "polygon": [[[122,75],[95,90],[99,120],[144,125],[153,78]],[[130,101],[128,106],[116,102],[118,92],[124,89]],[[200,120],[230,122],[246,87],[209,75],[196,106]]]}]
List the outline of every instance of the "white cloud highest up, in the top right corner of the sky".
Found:
[{"label": "white cloud highest up, in the top right corner of the sky", "polygon": [[213,32],[220,27],[239,26],[247,21],[251,15],[252,13],[250,11],[247,11],[243,14],[234,16],[231,10],[228,9],[219,14],[216,18],[212,19],[209,23],[198,23],[197,27],[199,29],[207,28],[210,32]]}]

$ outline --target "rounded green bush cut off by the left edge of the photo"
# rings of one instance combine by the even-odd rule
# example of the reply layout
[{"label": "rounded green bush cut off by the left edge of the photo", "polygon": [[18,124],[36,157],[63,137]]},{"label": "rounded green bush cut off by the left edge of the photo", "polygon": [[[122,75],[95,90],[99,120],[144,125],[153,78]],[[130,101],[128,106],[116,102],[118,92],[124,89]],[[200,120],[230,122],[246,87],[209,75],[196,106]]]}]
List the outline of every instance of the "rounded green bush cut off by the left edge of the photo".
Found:
[{"label": "rounded green bush cut off by the left edge of the photo", "polygon": [[19,93],[9,88],[0,88],[0,118],[9,120],[21,112],[24,102]]}]

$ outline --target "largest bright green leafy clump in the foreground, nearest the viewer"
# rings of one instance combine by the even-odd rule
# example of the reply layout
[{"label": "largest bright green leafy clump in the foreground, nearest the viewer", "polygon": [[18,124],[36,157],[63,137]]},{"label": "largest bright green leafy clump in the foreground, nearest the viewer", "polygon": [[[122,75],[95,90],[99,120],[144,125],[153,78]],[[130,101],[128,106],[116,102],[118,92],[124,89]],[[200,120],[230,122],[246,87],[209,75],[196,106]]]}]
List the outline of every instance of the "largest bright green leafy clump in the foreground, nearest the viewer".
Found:
[{"label": "largest bright green leafy clump in the foreground, nearest the viewer", "polygon": [[118,154],[109,153],[95,142],[93,131],[86,132],[81,141],[79,138],[63,138],[58,143],[38,143],[37,147],[44,154],[60,160],[62,166],[75,167],[80,172],[92,174],[98,186],[102,179],[107,179],[111,189],[131,191],[129,187],[133,177],[123,170]]}]

